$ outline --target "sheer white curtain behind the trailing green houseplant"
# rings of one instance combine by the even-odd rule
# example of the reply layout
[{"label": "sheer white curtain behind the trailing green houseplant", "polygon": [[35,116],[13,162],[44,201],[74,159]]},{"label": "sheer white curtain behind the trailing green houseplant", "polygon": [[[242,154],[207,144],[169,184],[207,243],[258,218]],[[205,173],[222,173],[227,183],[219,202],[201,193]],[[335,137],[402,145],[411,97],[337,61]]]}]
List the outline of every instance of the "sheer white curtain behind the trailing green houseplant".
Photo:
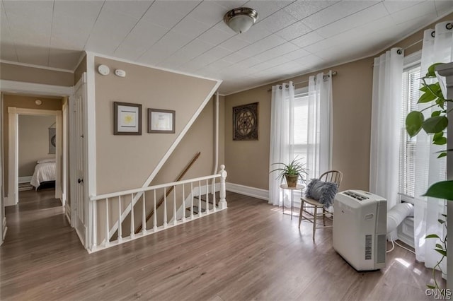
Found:
[{"label": "sheer white curtain behind the trailing green houseplant", "polygon": [[[437,23],[435,30],[425,30],[423,37],[421,75],[424,76],[428,67],[437,62],[448,63],[453,60],[453,21]],[[418,110],[428,107],[419,104]],[[432,110],[425,110],[425,118],[430,117]],[[417,135],[415,146],[415,199],[414,199],[414,230],[415,230],[415,258],[425,262],[425,266],[432,268],[440,259],[440,254],[435,252],[434,239],[425,240],[425,235],[437,234],[445,237],[442,226],[437,222],[446,210],[445,201],[421,196],[431,184],[445,180],[447,163],[445,158],[437,159],[435,152],[445,150],[445,146],[432,144],[432,136],[424,131]],[[447,272],[446,260],[441,266]]]}]

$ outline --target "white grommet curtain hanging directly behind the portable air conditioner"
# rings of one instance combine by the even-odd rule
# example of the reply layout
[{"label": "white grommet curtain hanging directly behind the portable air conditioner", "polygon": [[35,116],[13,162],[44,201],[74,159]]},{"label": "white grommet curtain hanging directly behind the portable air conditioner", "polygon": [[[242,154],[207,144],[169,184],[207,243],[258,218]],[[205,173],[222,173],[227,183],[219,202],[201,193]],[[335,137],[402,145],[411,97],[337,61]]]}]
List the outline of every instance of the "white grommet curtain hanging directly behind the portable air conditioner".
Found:
[{"label": "white grommet curtain hanging directly behind the portable air conditioner", "polygon": [[[400,48],[374,58],[369,191],[387,200],[387,210],[398,201],[403,59]],[[396,231],[391,238],[397,239]]]}]

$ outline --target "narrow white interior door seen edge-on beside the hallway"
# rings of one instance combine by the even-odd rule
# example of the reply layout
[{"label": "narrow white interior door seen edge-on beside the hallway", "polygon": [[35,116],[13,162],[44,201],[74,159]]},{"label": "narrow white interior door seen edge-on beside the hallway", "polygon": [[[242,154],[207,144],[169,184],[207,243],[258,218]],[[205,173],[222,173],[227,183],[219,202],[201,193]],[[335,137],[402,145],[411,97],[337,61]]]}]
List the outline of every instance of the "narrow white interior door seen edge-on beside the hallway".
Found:
[{"label": "narrow white interior door seen edge-on beside the hallway", "polygon": [[76,229],[82,244],[87,243],[87,208],[88,199],[85,194],[85,123],[84,123],[84,100],[86,99],[86,76],[82,76],[76,84],[71,124],[71,140],[73,142],[70,150],[71,157],[71,224]]}]

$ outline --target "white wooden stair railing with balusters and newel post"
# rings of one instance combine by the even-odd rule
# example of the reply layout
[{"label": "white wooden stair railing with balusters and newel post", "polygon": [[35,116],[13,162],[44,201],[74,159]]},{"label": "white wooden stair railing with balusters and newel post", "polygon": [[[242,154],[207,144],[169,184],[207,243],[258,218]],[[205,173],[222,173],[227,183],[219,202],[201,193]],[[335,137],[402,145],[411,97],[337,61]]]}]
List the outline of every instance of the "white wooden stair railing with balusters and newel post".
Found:
[{"label": "white wooden stair railing with balusters and newel post", "polygon": [[[202,216],[207,216],[209,214],[222,211],[226,209],[226,171],[225,165],[220,165],[220,170],[216,175],[210,175],[206,177],[197,177],[194,179],[185,179],[177,182],[171,182],[166,184],[159,184],[149,187],[142,187],[138,189],[130,189],[126,191],[119,191],[111,194],[101,194],[98,196],[91,196],[90,206],[92,206],[92,223],[91,229],[91,242],[90,242],[90,252],[96,252],[101,249],[105,249],[108,247],[112,247],[117,244],[122,244],[124,242],[128,242],[139,237],[144,237],[146,235],[153,234],[155,232],[159,232],[161,230],[174,227],[176,225],[180,225],[182,223],[187,223],[190,220],[194,220],[196,218],[200,218]],[[209,191],[210,187],[210,180],[215,180],[219,178],[219,203],[216,210],[206,210],[204,212],[199,211],[197,214],[193,213],[193,206],[194,206],[194,198],[195,196],[200,196],[202,194],[202,190],[206,189]],[[186,187],[190,186],[190,191],[186,194]],[[173,196],[171,194],[167,194],[168,189],[172,189],[173,187]],[[195,187],[195,189],[194,189]],[[179,196],[177,197],[177,189]],[[159,194],[163,194],[163,211],[157,211],[157,203],[159,201]],[[135,206],[134,198],[139,196],[139,199]],[[146,196],[151,196],[151,204],[148,203],[147,205],[147,198]],[[169,197],[168,197],[169,196]],[[168,206],[173,206],[173,217],[176,216],[176,208],[177,206],[182,203],[185,207],[186,198],[189,197],[190,206],[191,206],[191,214],[188,218],[183,216],[182,218],[171,218],[173,220],[172,223],[168,223]],[[199,198],[200,201],[200,198]],[[138,204],[141,203],[142,206]],[[147,228],[147,207],[152,205],[153,214],[153,223],[152,227]],[[142,230],[139,233],[135,232],[135,223],[136,220],[134,218],[134,211],[131,210],[136,208],[141,209],[141,223],[144,225]],[[137,208],[140,207],[140,208]],[[122,218],[122,212],[125,210],[130,211],[130,219],[125,220]],[[148,208],[149,209],[149,208]],[[160,216],[158,216],[161,214]],[[138,216],[137,216],[138,218]],[[129,222],[130,225],[126,225]],[[110,238],[109,231],[110,225],[113,223],[117,223],[119,226],[117,228],[117,237]],[[123,235],[123,230],[125,230],[125,235]],[[126,232],[127,231],[127,232]],[[101,243],[100,243],[101,242]]]}]

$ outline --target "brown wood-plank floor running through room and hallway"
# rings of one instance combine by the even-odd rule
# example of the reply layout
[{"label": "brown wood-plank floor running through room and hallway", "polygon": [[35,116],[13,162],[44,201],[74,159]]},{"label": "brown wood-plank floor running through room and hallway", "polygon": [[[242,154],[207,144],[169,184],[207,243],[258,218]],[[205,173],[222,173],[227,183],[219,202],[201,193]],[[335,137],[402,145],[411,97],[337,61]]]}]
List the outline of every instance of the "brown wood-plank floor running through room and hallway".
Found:
[{"label": "brown wood-plank floor running through room and hallway", "polygon": [[6,208],[0,300],[429,300],[431,271],[395,247],[381,271],[359,273],[331,229],[227,193],[229,208],[88,254],[52,191]]}]

